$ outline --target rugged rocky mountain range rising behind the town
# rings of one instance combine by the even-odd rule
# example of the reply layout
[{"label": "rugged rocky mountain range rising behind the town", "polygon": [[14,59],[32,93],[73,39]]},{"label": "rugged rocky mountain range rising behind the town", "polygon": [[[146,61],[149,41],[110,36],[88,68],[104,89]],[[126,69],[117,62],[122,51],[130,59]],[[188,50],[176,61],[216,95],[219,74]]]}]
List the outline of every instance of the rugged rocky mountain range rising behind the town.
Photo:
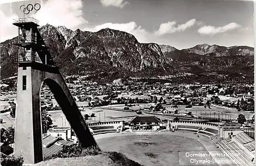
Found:
[{"label": "rugged rocky mountain range rising behind the town", "polygon": [[[253,78],[254,49],[249,46],[199,44],[178,50],[170,45],[140,43],[132,34],[102,29],[72,31],[49,24],[39,28],[54,61],[65,75],[113,81],[127,77],[235,75]],[[1,43],[1,76],[17,73],[17,37]]]}]

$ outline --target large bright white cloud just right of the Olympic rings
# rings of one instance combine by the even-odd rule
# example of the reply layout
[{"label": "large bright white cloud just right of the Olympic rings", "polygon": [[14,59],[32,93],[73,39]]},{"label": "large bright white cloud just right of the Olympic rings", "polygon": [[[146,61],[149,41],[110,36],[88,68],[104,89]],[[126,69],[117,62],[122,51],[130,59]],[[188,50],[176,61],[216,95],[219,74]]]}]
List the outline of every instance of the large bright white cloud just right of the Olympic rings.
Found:
[{"label": "large bright white cloud just right of the Olympic rings", "polygon": [[83,18],[81,0],[48,0],[36,13],[40,25],[49,23],[52,26],[65,26],[75,30],[88,23]]}]

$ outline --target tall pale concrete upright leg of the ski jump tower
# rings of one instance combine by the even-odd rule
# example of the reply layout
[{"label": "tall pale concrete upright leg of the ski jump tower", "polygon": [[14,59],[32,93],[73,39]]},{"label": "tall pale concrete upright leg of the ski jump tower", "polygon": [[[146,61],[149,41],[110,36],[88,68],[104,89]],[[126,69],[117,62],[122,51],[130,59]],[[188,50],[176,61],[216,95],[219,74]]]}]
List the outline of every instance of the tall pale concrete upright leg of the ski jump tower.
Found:
[{"label": "tall pale concrete upright leg of the ski jump tower", "polygon": [[14,154],[24,155],[24,163],[42,160],[40,101],[39,96],[33,95],[38,92],[32,87],[31,70],[31,67],[26,70],[18,67]]}]

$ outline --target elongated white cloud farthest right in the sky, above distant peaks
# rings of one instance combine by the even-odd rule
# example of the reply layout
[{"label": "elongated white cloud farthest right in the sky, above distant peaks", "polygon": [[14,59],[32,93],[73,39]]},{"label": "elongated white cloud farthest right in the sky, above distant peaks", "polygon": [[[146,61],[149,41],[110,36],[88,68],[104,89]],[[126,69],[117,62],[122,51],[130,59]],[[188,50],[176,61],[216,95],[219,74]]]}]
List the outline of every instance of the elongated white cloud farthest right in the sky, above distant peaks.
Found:
[{"label": "elongated white cloud farthest right in the sky, above distant peaks", "polygon": [[231,31],[234,29],[238,29],[242,26],[240,26],[238,23],[236,22],[231,22],[226,26],[223,27],[213,27],[213,26],[204,26],[198,29],[198,33],[200,33],[201,35],[215,35],[218,33],[224,33],[227,31]]}]

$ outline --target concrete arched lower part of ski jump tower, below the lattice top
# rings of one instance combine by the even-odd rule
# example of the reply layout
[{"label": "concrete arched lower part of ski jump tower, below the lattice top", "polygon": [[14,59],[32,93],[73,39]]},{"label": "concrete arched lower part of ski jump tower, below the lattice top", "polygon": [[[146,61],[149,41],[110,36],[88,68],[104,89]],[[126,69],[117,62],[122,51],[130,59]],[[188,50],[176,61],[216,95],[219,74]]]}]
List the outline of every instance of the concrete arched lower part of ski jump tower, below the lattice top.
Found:
[{"label": "concrete arched lower part of ski jump tower, below the lattice top", "polygon": [[24,163],[43,160],[40,107],[43,83],[49,86],[81,145],[98,146],[58,67],[34,63],[26,68],[18,67],[14,154],[23,154]]}]

